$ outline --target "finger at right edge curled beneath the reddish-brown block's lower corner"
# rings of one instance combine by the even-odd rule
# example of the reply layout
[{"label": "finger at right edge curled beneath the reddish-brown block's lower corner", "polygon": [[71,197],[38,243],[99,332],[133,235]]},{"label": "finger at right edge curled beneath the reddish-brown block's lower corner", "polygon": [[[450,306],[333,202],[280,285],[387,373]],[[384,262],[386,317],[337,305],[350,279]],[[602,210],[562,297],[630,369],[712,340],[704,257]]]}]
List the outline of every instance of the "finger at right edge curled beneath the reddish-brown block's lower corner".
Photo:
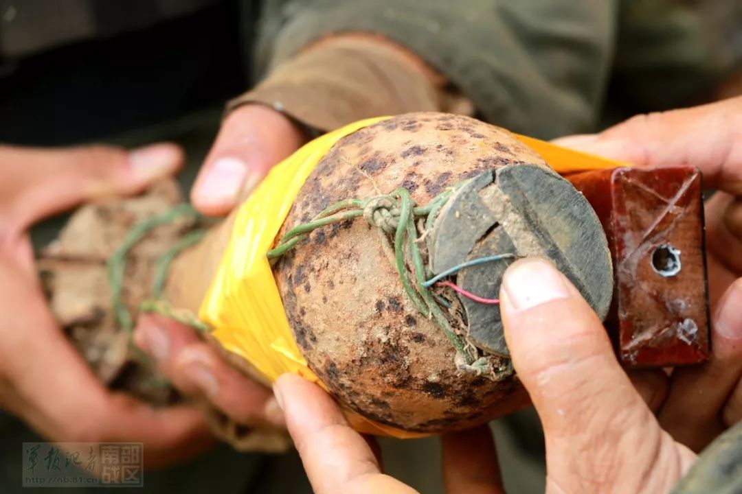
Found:
[{"label": "finger at right edge curled beneath the reddish-brown block's lower corner", "polygon": [[670,392],[659,415],[663,428],[695,451],[702,450],[726,429],[720,410],[725,410],[724,405],[742,377],[740,307],[742,279],[729,287],[712,316],[711,358],[700,366],[674,370]]}]

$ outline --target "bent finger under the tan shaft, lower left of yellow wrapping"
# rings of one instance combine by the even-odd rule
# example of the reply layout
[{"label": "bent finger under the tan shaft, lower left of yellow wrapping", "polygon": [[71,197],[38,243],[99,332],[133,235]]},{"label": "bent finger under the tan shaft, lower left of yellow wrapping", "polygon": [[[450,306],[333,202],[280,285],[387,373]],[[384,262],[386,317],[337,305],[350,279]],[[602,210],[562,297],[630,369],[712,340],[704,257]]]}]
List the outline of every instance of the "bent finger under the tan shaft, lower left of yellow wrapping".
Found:
[{"label": "bent finger under the tan shaft, lower left of yellow wrapping", "polygon": [[271,391],[229,365],[191,327],[148,316],[137,322],[135,341],[186,395],[208,400],[238,424],[284,427]]}]

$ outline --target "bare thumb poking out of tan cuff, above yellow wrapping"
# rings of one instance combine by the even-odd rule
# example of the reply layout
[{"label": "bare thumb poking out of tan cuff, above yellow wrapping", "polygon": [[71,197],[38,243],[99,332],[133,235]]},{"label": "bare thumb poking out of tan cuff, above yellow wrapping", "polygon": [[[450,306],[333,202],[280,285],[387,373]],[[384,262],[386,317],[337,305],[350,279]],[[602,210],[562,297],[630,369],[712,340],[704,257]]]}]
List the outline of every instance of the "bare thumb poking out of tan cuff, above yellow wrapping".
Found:
[{"label": "bare thumb poking out of tan cuff, above yellow wrapping", "polygon": [[222,124],[191,191],[191,201],[203,214],[226,215],[273,165],[305,140],[288,117],[272,108],[259,104],[237,108]]}]

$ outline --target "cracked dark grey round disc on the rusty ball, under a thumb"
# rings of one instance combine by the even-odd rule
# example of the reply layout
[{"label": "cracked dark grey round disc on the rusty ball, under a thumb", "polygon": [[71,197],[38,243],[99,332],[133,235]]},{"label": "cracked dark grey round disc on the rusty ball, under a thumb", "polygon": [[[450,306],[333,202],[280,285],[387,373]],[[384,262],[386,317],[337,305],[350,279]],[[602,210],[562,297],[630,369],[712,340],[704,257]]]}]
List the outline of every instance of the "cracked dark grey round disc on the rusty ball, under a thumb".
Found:
[{"label": "cracked dark grey round disc on the rusty ball, under a thumb", "polygon": [[[600,317],[608,313],[611,256],[600,221],[582,194],[551,170],[528,164],[499,168],[494,177],[483,173],[471,183],[476,186],[450,198],[430,231],[436,247],[430,249],[433,273],[464,260],[511,254],[506,260],[464,268],[456,276],[467,292],[497,298],[505,269],[515,258],[548,258]],[[459,300],[471,343],[487,353],[509,356],[499,307],[465,296]]]}]

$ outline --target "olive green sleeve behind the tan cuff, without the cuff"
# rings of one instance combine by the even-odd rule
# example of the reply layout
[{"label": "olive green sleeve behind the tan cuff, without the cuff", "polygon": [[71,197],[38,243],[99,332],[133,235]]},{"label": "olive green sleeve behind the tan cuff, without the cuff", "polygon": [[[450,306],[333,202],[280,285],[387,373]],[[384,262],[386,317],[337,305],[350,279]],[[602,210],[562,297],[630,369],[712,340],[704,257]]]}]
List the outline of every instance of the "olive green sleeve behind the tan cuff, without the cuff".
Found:
[{"label": "olive green sleeve behind the tan cuff, without the cuff", "polygon": [[482,118],[552,138],[594,130],[614,51],[617,0],[266,1],[261,73],[335,33],[375,33],[412,50]]}]

